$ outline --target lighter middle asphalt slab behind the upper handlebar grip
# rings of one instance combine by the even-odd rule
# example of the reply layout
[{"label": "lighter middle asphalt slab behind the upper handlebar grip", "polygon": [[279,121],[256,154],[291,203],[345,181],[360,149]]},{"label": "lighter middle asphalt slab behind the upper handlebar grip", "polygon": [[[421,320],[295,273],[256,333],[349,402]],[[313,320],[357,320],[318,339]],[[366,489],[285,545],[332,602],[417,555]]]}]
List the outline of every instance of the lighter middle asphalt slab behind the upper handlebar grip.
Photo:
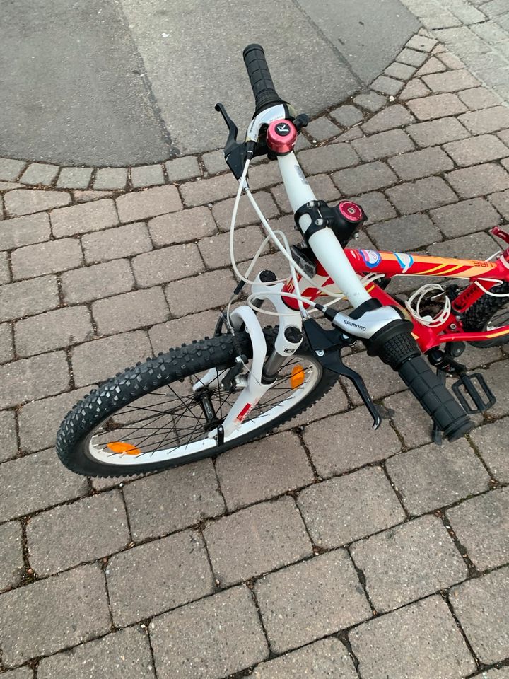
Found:
[{"label": "lighter middle asphalt slab behind the upper handlebar grip", "polygon": [[161,113],[180,153],[226,141],[213,110],[223,101],[245,129],[254,111],[242,50],[259,42],[276,90],[298,110],[316,114],[361,84],[339,52],[292,0],[120,0],[144,59]]}]

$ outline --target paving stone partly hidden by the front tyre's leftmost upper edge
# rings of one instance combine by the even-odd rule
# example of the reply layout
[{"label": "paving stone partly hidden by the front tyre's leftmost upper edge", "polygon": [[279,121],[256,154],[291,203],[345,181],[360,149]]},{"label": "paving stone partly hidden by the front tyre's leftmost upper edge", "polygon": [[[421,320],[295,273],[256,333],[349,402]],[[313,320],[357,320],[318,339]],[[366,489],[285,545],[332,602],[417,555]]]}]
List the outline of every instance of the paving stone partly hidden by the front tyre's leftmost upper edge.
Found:
[{"label": "paving stone partly hidden by the front tyre's leftmost upper edge", "polygon": [[21,450],[33,453],[53,446],[64,415],[87,392],[76,389],[23,405],[18,412]]}]

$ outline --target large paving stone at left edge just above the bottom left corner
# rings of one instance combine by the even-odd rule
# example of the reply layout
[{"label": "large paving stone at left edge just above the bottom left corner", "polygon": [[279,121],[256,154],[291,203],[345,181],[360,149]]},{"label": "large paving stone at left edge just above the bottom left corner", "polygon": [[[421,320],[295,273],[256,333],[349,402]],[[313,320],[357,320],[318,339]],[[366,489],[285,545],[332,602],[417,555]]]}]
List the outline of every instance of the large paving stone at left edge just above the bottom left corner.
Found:
[{"label": "large paving stone at left edge just above the bottom left corner", "polygon": [[0,621],[8,667],[106,634],[110,614],[103,573],[84,566],[6,592],[0,596]]}]

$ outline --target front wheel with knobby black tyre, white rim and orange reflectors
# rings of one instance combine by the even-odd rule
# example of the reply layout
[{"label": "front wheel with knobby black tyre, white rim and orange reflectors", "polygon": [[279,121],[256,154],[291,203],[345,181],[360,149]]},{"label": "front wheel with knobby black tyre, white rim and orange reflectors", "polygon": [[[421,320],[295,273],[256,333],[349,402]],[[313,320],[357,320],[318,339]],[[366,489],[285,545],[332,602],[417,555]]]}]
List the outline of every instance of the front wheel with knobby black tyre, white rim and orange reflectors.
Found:
[{"label": "front wheel with knobby black tyre, white rim and orange reflectors", "polygon": [[[264,334],[271,352],[276,330],[266,328]],[[247,333],[237,337],[242,353],[252,356]],[[218,446],[209,432],[226,417],[238,392],[225,390],[219,377],[206,390],[192,387],[211,368],[225,371],[234,366],[237,354],[231,335],[221,335],[171,349],[119,373],[66,415],[57,434],[60,460],[80,474],[119,476],[217,455],[291,419],[336,381],[322,370],[304,340],[281,367],[276,383]]]}]

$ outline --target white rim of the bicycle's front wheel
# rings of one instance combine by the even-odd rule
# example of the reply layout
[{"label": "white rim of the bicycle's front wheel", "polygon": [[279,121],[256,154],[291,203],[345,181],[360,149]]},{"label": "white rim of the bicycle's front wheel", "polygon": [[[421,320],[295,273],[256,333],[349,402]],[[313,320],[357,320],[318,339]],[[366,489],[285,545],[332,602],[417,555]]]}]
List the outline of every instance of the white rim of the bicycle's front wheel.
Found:
[{"label": "white rim of the bicycle's front wheel", "polygon": [[[296,357],[297,358],[297,357]],[[303,361],[304,362],[304,361]],[[248,419],[239,426],[239,428],[233,432],[230,436],[225,438],[225,443],[230,443],[237,439],[240,439],[246,434],[250,434],[259,427],[270,422],[271,419],[279,417],[281,414],[288,412],[294,405],[303,400],[317,385],[320,380],[321,369],[319,364],[315,364],[312,359],[308,356],[305,358],[306,364],[308,366],[305,368],[306,380],[300,385],[300,387],[291,391],[291,393],[283,399],[281,402],[274,405],[274,407],[269,408],[253,417]],[[288,376],[289,378],[289,376]],[[267,392],[270,395],[270,390]],[[261,403],[260,405],[263,405]],[[110,416],[108,416],[110,417]],[[108,418],[107,418],[108,419]],[[100,463],[111,465],[111,466],[132,466],[136,467],[139,465],[146,465],[147,463],[159,463],[167,460],[176,460],[178,458],[187,457],[187,455],[194,455],[196,453],[205,453],[213,448],[216,448],[215,439],[209,439],[204,437],[199,439],[199,441],[192,441],[192,443],[187,443],[185,446],[174,446],[172,448],[163,448],[161,450],[150,451],[146,453],[141,453],[139,455],[127,455],[122,453],[112,453],[110,451],[105,451],[104,443],[98,446],[94,442],[94,438],[98,439],[99,434],[95,434],[96,431],[103,425],[98,424],[98,426],[93,429],[87,438],[86,446],[88,456],[93,460],[97,460]]]}]

